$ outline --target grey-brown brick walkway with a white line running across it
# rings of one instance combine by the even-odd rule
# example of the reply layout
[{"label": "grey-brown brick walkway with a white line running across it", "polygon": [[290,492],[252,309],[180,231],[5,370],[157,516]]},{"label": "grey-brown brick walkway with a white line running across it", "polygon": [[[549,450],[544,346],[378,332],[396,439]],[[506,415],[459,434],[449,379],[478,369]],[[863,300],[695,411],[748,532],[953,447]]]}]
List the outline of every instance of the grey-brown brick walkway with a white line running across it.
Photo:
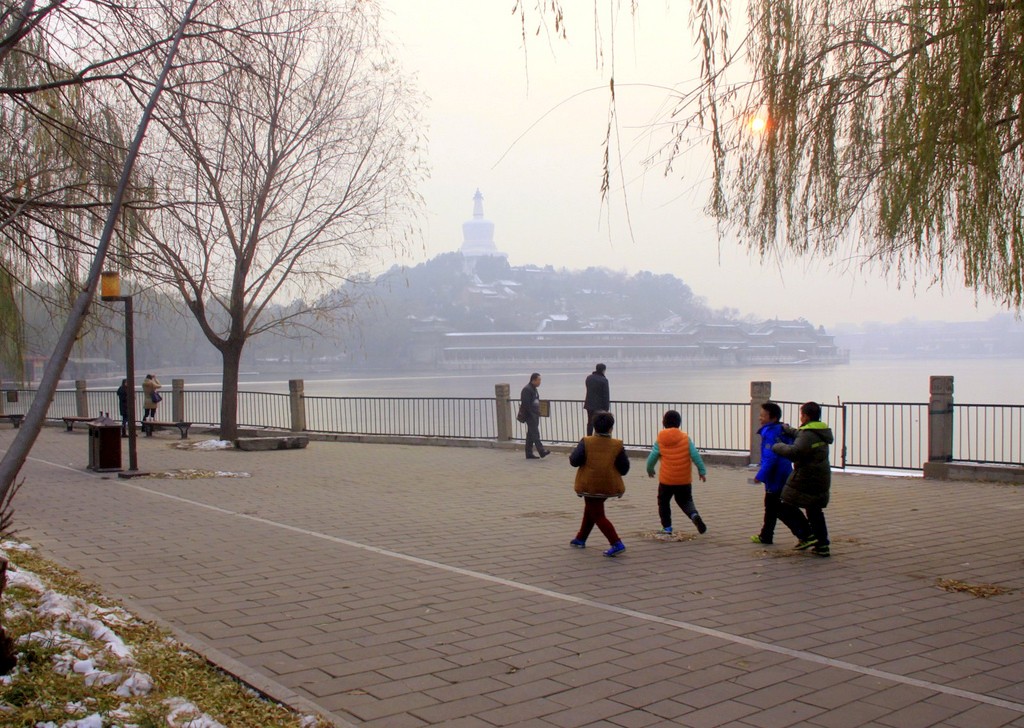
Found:
[{"label": "grey-brown brick walkway with a white line running across it", "polygon": [[48,428],[22,537],[339,725],[1024,726],[1019,486],[838,474],[819,559],[749,542],[742,469],[696,486],[707,534],[677,511],[694,538],[656,540],[635,461],[607,559],[597,531],[568,548],[563,454],[177,443],[141,439],[141,466],[251,477],[119,480],[83,469],[84,432]]}]

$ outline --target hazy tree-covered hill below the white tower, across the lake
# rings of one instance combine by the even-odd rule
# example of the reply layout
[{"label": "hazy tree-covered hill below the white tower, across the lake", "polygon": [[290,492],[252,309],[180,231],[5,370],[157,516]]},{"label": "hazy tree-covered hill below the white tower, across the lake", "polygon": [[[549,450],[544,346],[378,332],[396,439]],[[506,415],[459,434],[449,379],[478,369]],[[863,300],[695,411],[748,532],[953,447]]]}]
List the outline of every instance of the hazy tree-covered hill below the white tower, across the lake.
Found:
[{"label": "hazy tree-covered hill below the white tower, across the lake", "polygon": [[445,253],[410,268],[332,294],[358,303],[349,318],[319,327],[301,350],[290,342],[254,342],[261,359],[404,369],[411,347],[441,332],[654,332],[679,322],[735,323],[714,310],[680,279],[591,267],[510,266],[504,258]]}]

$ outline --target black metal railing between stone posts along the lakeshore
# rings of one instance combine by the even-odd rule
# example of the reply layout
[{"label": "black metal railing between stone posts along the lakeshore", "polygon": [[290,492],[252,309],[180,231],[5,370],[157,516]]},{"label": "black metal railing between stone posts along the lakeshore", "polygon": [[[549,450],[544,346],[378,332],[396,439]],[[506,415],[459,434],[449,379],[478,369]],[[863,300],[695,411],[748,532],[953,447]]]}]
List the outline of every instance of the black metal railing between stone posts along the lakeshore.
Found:
[{"label": "black metal railing between stone posts along the lakeshore", "polygon": [[[184,419],[216,426],[220,421],[221,392],[181,392]],[[33,389],[4,389],[3,412],[25,414],[36,397]],[[87,390],[86,414],[111,413],[117,419],[113,389]],[[141,414],[141,396],[136,397]],[[800,404],[779,401],[782,420],[800,422]],[[498,436],[498,400],[460,397],[303,397],[306,429],[311,432],[394,436],[494,439]],[[161,409],[171,406],[165,396]],[[548,416],[541,423],[545,442],[574,443],[586,433],[583,402],[547,400]],[[928,459],[928,404],[921,402],[841,402],[822,404],[822,420],[836,441],[830,461],[836,468],[864,467],[921,470]],[[525,427],[515,422],[518,400],[509,401],[512,436],[523,440]],[[616,401],[615,435],[628,446],[649,447],[662,427],[667,410],[677,410],[683,428],[705,451],[748,452],[751,446],[749,402]],[[47,418],[59,420],[79,414],[78,392],[58,390]],[[756,413],[755,413],[756,415]],[[242,427],[292,427],[290,395],[239,392]],[[1024,405],[954,404],[952,459],[961,462],[1024,465]]]}]

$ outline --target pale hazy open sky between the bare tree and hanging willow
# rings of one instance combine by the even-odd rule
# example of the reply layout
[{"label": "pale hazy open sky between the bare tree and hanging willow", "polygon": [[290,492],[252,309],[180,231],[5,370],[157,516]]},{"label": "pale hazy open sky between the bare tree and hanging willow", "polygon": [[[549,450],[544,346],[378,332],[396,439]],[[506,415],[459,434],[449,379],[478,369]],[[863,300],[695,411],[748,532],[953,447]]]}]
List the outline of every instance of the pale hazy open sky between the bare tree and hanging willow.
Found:
[{"label": "pale hazy open sky between the bare tree and hanging willow", "polygon": [[[523,1],[532,7],[534,0]],[[498,248],[513,265],[673,273],[714,308],[825,326],[971,320],[1004,310],[987,297],[976,305],[958,279],[945,291],[930,287],[928,277],[898,288],[856,261],[762,263],[734,241],[720,241],[703,214],[702,152],[668,178],[660,167],[644,171],[642,161],[665,141],[655,123],[665,88],[691,88],[696,77],[684,0],[668,10],[666,0],[644,0],[635,20],[630,3],[598,3],[623,6],[614,70],[625,159],[604,208],[599,183],[609,68],[607,58],[604,70],[596,66],[593,2],[565,3],[567,41],[535,36],[536,25],[527,27],[525,55],[513,0],[381,3],[399,59],[430,98],[424,118],[431,177],[421,189],[426,217],[422,243],[407,262],[459,248],[479,188]],[[610,18],[600,23],[607,39]]]}]

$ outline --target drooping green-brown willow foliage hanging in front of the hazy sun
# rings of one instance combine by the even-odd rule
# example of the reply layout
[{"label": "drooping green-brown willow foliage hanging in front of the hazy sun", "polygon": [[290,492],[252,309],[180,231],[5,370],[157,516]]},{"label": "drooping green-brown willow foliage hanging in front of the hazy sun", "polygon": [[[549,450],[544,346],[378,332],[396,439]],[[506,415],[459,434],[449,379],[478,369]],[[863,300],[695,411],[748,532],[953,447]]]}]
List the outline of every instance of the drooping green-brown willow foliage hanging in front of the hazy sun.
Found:
[{"label": "drooping green-brown willow foliage hanging in front of the hazy sun", "polygon": [[849,246],[1019,309],[1024,2],[752,0],[734,46],[726,5],[694,2],[712,212],[762,255]]}]

